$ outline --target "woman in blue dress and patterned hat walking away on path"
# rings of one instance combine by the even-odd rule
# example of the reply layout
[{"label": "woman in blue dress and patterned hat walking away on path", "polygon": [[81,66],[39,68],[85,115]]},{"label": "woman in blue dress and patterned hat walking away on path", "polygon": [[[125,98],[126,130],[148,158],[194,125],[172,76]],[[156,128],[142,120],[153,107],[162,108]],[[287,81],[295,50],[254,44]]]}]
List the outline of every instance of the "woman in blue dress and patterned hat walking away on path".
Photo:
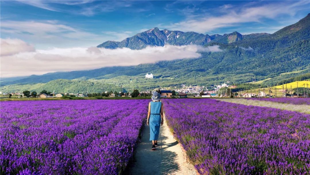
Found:
[{"label": "woman in blue dress and patterned hat walking away on path", "polygon": [[160,94],[153,92],[152,102],[148,103],[148,119],[147,124],[150,126],[150,141],[152,140],[152,150],[157,146],[160,125],[164,124],[164,114],[162,110],[162,102]]}]

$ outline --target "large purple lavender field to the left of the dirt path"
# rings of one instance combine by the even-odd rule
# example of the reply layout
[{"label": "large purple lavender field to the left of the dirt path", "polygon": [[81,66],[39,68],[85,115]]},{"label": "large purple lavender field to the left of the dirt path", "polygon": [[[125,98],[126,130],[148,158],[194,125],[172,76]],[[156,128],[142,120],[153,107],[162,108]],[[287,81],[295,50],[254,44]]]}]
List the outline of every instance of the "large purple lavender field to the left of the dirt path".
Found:
[{"label": "large purple lavender field to the left of the dirt path", "polygon": [[149,100],[1,102],[1,174],[119,174]]}]

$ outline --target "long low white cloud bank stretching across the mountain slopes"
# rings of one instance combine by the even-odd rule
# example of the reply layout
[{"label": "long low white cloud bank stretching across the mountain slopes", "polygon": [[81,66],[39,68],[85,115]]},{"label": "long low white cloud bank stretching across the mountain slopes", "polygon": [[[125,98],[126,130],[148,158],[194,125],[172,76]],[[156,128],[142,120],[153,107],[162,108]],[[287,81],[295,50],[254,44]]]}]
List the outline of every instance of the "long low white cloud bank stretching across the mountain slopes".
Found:
[{"label": "long low white cloud bank stretching across the mountain slopes", "polygon": [[[4,51],[4,47],[14,48]],[[130,48],[51,48],[35,50],[24,41],[7,44],[1,40],[1,77],[26,76],[57,71],[96,69],[107,66],[130,66],[155,63],[162,60],[198,58],[199,52],[221,52],[219,46],[198,45],[147,47],[141,50]],[[25,43],[25,44],[21,44]],[[23,45],[24,47],[18,47]],[[18,50],[17,48],[21,48]]]}]

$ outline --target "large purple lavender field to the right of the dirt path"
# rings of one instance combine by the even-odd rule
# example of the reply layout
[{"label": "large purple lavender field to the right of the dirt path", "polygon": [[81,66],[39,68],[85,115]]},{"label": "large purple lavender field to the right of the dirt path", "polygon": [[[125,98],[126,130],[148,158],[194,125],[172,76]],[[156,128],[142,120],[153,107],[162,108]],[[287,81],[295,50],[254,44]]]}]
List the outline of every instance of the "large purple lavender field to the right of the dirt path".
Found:
[{"label": "large purple lavender field to the right of the dirt path", "polygon": [[310,173],[310,115],[213,99],[164,102],[169,127],[201,174]]}]

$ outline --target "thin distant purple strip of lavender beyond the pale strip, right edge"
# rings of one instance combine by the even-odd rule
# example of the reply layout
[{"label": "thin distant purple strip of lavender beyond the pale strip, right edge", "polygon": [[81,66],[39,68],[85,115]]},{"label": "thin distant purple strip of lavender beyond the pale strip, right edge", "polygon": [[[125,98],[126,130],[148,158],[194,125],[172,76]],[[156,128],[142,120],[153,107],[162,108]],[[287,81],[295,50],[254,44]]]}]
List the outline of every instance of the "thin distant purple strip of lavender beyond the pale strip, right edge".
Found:
[{"label": "thin distant purple strip of lavender beyond the pale strip, right edge", "polygon": [[310,98],[247,98],[247,99],[278,102],[278,103],[289,103],[294,105],[310,105]]}]

